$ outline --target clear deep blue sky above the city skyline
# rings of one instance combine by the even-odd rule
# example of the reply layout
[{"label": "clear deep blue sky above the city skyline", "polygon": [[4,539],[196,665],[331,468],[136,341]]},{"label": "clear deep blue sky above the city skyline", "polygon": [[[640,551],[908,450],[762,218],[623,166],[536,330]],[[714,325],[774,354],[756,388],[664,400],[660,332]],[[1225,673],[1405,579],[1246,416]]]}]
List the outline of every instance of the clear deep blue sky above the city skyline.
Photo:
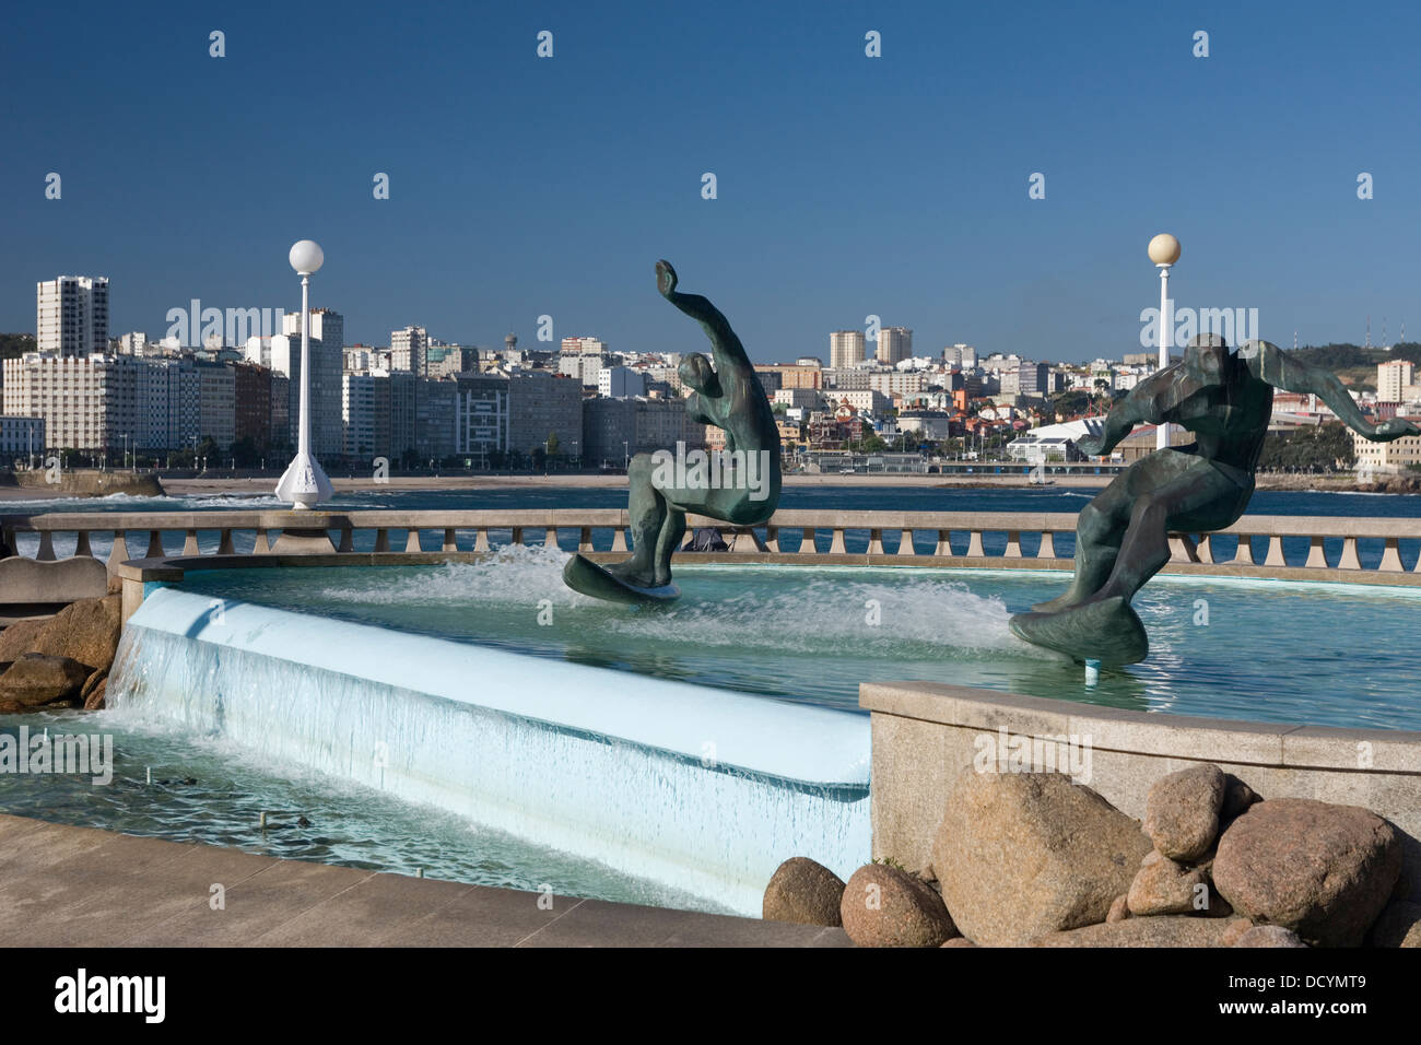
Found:
[{"label": "clear deep blue sky above the city skyline", "polygon": [[109,276],[115,334],[193,297],[294,310],[286,252],[313,237],[347,341],[529,344],[550,314],[696,350],[655,293],[668,257],[757,361],[870,313],[919,354],[1118,357],[1169,230],[1181,307],[1258,309],[1285,345],[1368,314],[1421,338],[1421,6],[1239,7],[11,6],[0,328],[33,331],[60,273]]}]

